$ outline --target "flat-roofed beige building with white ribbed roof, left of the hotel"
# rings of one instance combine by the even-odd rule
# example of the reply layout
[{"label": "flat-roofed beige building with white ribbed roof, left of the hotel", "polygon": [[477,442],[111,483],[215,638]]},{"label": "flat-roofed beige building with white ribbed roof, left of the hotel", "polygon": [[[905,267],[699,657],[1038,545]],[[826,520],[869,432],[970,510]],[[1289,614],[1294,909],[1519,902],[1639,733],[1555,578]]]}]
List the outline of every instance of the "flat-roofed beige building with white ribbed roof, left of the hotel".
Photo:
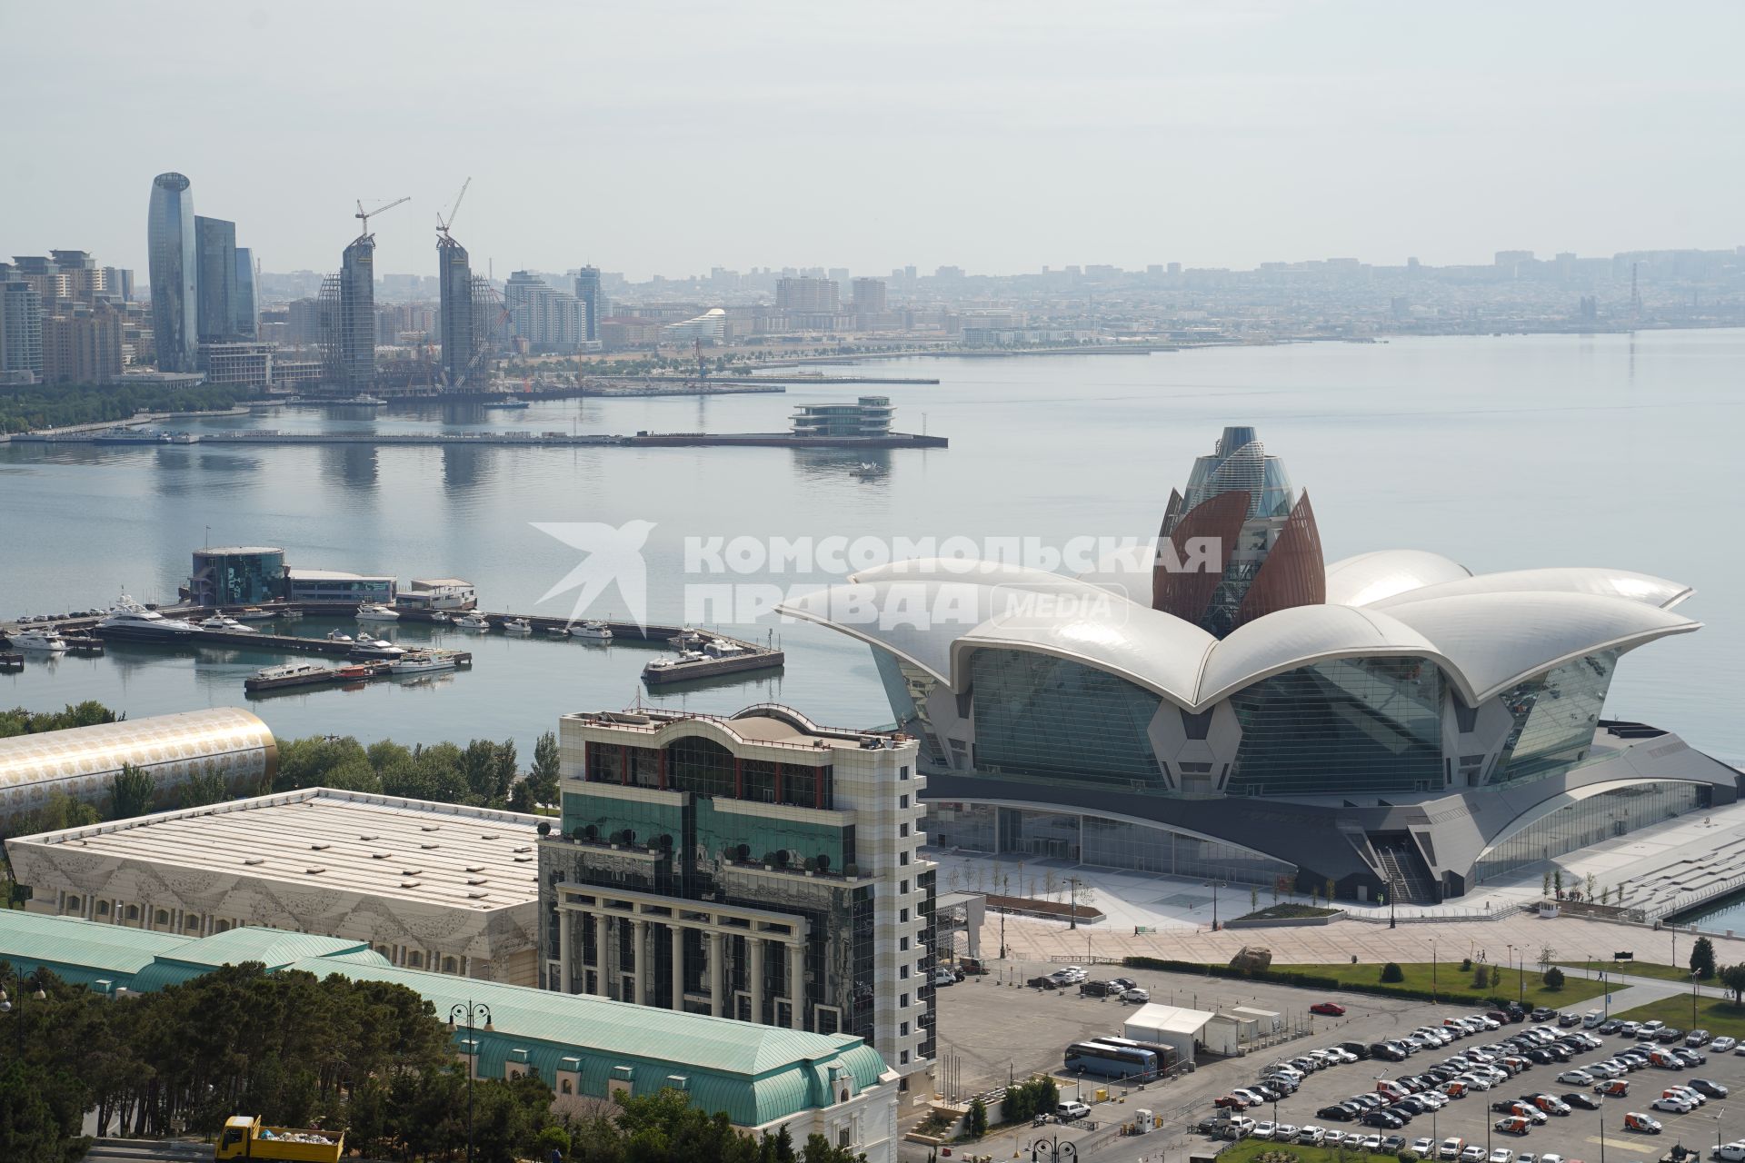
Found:
[{"label": "flat-roofed beige building with white ribbed roof, left of the hotel", "polygon": [[33,912],[180,936],[270,924],[391,964],[536,976],[532,816],[305,788],[12,839]]}]

